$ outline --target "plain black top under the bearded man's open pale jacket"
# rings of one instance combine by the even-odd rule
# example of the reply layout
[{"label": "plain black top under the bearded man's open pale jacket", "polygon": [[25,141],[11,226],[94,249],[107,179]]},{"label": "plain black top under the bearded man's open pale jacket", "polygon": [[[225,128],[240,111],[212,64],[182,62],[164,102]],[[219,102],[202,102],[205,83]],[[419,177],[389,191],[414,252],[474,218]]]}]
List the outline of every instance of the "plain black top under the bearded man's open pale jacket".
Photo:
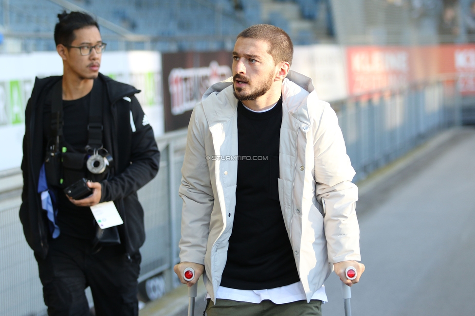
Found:
[{"label": "plain black top under the bearded man's open pale jacket", "polygon": [[298,282],[279,202],[282,98],[269,111],[237,106],[236,209],[222,286],[261,290]]}]

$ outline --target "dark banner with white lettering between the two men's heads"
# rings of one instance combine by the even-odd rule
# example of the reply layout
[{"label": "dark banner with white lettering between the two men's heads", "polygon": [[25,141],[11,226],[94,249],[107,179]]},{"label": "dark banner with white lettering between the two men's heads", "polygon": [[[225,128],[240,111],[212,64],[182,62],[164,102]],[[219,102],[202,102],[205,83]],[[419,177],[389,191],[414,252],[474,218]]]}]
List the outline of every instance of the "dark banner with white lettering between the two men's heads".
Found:
[{"label": "dark banner with white lettering between the two men's heads", "polygon": [[193,107],[214,83],[232,75],[230,52],[162,54],[165,132],[188,126]]}]

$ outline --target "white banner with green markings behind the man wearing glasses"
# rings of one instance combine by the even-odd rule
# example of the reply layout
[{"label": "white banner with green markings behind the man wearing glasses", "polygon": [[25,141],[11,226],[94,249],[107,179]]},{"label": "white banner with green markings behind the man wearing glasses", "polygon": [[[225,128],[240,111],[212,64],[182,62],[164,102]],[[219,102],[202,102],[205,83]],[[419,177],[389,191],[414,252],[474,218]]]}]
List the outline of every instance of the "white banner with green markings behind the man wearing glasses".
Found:
[{"label": "white banner with green markings behind the man wearing glasses", "polygon": [[[100,71],[142,90],[137,96],[155,136],[164,133],[162,59],[159,52],[105,52]],[[56,52],[0,54],[0,171],[18,168],[23,155],[25,107],[35,77],[61,75]]]}]

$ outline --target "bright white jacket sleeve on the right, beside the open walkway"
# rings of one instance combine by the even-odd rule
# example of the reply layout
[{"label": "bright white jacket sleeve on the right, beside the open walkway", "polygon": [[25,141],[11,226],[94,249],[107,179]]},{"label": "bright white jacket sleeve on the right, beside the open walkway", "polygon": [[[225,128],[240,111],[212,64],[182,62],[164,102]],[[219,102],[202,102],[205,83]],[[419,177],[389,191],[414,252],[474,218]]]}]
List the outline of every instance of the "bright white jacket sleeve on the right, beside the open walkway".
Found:
[{"label": "bright white jacket sleeve on the right, beside the open walkway", "polygon": [[358,188],[351,182],[355,171],[335,111],[324,105],[314,122],[315,195],[324,206],[324,229],[329,262],[360,261],[360,230],[356,218]]}]

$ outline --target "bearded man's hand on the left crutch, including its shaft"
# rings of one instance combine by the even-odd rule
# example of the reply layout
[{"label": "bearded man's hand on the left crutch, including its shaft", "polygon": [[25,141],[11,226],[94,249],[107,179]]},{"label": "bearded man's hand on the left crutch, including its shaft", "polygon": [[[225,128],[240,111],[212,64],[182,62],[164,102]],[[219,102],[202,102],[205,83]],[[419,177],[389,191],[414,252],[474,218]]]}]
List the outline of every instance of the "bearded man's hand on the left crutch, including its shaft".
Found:
[{"label": "bearded man's hand on the left crutch, including its shaft", "polygon": [[204,265],[192,262],[182,262],[173,268],[183,284],[188,286],[188,316],[194,316],[195,298],[198,289],[198,279],[204,272]]}]

